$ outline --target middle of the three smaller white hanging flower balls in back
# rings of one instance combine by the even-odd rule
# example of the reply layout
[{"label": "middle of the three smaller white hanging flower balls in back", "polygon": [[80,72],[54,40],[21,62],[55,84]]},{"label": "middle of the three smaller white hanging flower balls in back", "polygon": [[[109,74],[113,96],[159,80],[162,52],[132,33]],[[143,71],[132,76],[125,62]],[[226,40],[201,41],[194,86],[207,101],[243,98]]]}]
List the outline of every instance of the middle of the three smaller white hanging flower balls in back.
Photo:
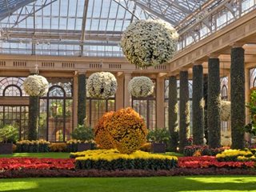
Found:
[{"label": "middle of the three smaller white hanging flower balls in back", "polygon": [[91,74],[86,83],[86,90],[91,98],[110,98],[117,88],[117,79],[109,72]]}]

